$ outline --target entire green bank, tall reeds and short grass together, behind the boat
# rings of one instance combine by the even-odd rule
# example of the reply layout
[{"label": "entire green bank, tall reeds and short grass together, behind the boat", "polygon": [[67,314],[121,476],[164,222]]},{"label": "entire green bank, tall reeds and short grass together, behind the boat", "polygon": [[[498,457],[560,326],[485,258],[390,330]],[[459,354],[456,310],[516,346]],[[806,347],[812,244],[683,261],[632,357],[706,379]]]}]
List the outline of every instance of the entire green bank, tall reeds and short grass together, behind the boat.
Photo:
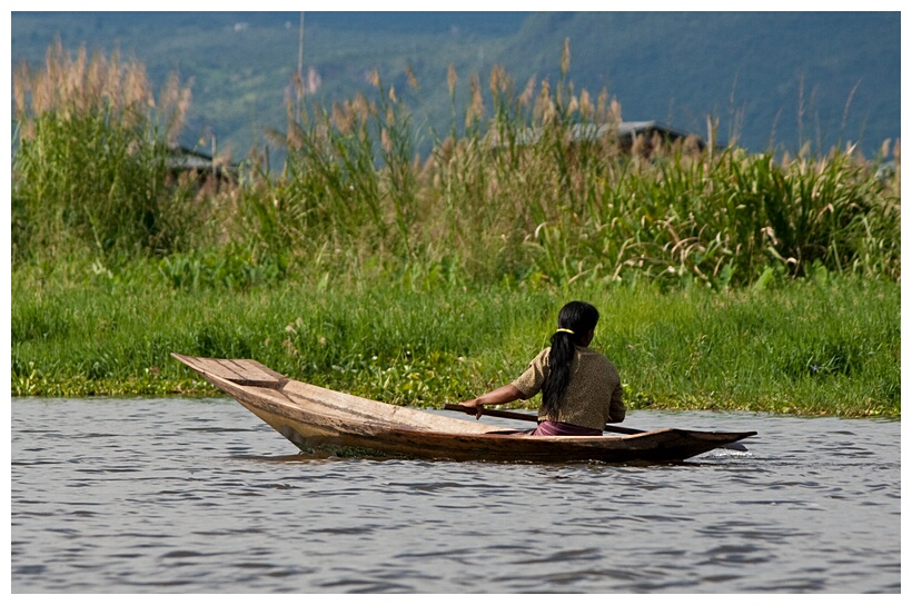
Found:
[{"label": "entire green bank, tall reeds and short grass together, behind the boat", "polygon": [[427,158],[380,75],[331,108],[298,89],[285,165],[215,184],[169,168],[177,79],[156,100],[142,66],[51,47],[13,78],[13,395],[202,391],[180,351],[438,405],[510,380],[582,298],[633,407],[899,416],[899,142],[893,171],[625,142],[561,65],[473,76],[464,112],[452,71]]}]

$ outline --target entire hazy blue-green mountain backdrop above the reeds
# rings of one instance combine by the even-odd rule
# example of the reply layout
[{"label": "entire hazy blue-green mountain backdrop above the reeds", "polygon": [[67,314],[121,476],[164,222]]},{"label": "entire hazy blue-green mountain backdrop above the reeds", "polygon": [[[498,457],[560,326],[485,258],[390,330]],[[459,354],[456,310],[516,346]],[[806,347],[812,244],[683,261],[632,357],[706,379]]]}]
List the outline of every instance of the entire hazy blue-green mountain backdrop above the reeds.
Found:
[{"label": "entire hazy blue-green mountain backdrop above the reeds", "polygon": [[[603,88],[625,120],[657,120],[720,135],[753,150],[826,151],[856,141],[873,157],[900,137],[899,12],[307,12],[305,69],[318,83],[311,100],[329,102],[366,89],[377,68],[407,90],[419,126],[450,125],[446,73],[458,73],[465,107],[468,80],[503,65],[518,87],[559,76],[571,44],[569,78],[578,91]],[[12,60],[41,61],[60,36],[75,50],[120,49],[163,82],[169,71],[192,78],[196,143],[204,131],[235,157],[285,125],[285,96],[297,70],[297,12],[13,12]]]}]

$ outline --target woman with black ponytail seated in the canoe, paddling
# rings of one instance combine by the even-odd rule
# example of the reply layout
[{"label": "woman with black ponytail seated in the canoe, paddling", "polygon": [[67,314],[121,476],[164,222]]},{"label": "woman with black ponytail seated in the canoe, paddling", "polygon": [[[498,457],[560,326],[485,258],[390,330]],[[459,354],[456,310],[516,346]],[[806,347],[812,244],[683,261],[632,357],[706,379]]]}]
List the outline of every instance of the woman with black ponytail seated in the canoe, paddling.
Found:
[{"label": "woman with black ponytail seated in the canoe, paddling", "polygon": [[624,419],[626,408],[617,369],[588,348],[597,323],[598,311],[588,302],[566,304],[551,347],[519,378],[462,405],[476,408],[475,417],[480,418],[486,405],[527,400],[542,391],[533,435],[602,435],[606,423]]}]

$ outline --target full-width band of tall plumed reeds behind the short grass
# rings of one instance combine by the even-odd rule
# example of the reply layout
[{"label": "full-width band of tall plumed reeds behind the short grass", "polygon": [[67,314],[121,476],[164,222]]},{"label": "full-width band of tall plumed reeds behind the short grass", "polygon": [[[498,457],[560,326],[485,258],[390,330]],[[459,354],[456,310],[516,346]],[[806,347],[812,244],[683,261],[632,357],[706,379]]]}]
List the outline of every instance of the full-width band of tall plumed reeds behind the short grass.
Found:
[{"label": "full-width band of tall plumed reeds behind the short grass", "polygon": [[202,257],[278,276],[725,289],[820,266],[900,279],[899,141],[888,176],[851,147],[627,143],[621,105],[577,89],[569,65],[567,42],[556,82],[521,90],[496,67],[485,93],[472,75],[463,115],[450,69],[453,125],[426,158],[408,96],[376,72],[371,91],[328,107],[289,99],[287,128],[272,133],[287,149],[281,170],[251,170],[228,197],[200,201],[165,179],[189,93],[172,78],[151,111],[140,65],[72,59],[58,43],[42,71],[14,78],[14,257],[68,241],[165,257],[205,244]]}]

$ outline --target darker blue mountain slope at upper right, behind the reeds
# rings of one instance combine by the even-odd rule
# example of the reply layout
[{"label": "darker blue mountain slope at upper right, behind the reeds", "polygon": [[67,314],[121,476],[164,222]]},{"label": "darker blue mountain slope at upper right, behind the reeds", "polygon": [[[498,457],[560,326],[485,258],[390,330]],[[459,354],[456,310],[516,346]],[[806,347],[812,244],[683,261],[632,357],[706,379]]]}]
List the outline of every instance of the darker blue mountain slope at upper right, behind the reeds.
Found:
[{"label": "darker blue mountain slope at upper right, behind the reeds", "polygon": [[899,13],[534,14],[505,63],[544,69],[543,49],[564,32],[575,80],[606,86],[625,119],[705,131],[707,113],[731,128],[741,116],[741,142],[754,149],[771,137],[873,149],[900,136]]}]

